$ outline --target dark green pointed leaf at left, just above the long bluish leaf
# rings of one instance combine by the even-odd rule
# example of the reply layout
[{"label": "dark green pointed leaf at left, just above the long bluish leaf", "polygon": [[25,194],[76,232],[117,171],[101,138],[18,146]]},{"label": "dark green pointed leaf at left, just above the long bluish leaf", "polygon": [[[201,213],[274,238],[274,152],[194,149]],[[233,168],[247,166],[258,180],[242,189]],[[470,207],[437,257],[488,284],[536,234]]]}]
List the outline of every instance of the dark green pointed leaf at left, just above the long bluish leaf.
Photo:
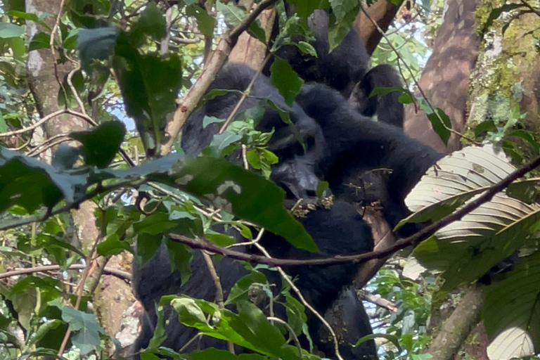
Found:
[{"label": "dark green pointed leaf at left, just above the long bluish leaf", "polygon": [[123,122],[110,121],[88,131],[72,132],[70,136],[82,143],[80,150],[86,165],[103,169],[113,162],[125,134]]}]

